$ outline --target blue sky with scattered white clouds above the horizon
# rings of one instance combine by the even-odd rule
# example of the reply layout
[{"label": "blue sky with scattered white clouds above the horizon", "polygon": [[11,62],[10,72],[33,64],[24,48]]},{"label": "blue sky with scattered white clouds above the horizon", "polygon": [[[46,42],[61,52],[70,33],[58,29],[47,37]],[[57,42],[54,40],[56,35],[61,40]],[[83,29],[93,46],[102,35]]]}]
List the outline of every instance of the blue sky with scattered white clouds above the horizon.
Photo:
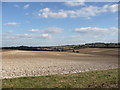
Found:
[{"label": "blue sky with scattered white clouds above the horizon", "polygon": [[3,46],[118,42],[115,2],[3,2]]}]

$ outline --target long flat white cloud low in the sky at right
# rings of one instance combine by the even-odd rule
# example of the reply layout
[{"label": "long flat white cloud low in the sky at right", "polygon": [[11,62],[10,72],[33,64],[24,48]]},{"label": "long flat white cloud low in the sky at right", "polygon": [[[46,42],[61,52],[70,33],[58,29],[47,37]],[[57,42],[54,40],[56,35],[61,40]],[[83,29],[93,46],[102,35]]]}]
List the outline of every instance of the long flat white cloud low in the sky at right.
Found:
[{"label": "long flat white cloud low in the sky at right", "polygon": [[98,27],[82,27],[74,29],[75,32],[81,33],[82,35],[113,35],[118,33],[118,29],[112,28],[98,28]]}]

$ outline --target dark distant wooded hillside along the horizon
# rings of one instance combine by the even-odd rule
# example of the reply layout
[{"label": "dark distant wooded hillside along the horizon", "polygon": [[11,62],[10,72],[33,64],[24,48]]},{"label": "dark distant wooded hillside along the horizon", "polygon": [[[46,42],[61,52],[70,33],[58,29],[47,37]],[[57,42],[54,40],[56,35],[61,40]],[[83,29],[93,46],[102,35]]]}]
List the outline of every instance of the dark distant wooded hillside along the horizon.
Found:
[{"label": "dark distant wooded hillside along the horizon", "polygon": [[64,45],[64,46],[48,46],[48,47],[29,47],[29,46],[17,46],[17,47],[2,47],[2,49],[10,50],[32,50],[32,51],[69,51],[81,48],[119,48],[118,43],[87,43],[82,45]]}]

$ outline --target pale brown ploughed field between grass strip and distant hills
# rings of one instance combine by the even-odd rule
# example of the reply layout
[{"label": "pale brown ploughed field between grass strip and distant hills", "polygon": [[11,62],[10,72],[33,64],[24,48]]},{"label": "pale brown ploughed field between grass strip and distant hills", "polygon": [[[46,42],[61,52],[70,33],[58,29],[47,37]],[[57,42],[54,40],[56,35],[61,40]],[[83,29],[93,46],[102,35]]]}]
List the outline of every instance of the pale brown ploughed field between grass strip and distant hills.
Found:
[{"label": "pale brown ploughed field between grass strip and distant hills", "polygon": [[85,48],[79,49],[79,53],[22,50],[1,53],[3,78],[118,68],[117,48]]}]

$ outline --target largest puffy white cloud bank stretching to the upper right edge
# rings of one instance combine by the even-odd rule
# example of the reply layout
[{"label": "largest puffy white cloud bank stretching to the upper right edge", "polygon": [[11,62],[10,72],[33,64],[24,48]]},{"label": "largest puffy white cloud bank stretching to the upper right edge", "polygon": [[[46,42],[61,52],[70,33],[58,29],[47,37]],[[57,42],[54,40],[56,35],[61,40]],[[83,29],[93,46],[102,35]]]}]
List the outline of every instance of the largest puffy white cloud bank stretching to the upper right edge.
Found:
[{"label": "largest puffy white cloud bank stretching to the upper right edge", "polygon": [[103,7],[87,6],[77,10],[58,10],[56,12],[53,12],[50,8],[44,8],[39,10],[38,16],[42,18],[90,18],[92,16],[96,16],[102,13],[115,13],[117,11],[118,4],[104,5]]}]

